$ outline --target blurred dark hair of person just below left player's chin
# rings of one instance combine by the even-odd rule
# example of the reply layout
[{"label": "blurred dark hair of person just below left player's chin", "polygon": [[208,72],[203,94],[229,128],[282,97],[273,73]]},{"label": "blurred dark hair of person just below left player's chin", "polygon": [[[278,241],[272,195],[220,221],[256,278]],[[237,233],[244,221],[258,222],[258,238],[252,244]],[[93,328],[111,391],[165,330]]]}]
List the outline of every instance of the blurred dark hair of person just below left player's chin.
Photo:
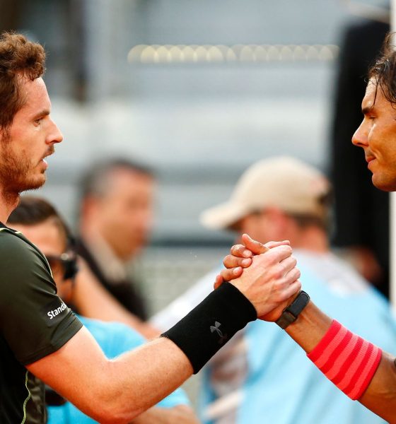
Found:
[{"label": "blurred dark hair of person just below left player's chin", "polygon": [[18,206],[8,217],[7,225],[37,225],[48,219],[52,219],[54,224],[57,225],[59,232],[64,237],[65,246],[69,247],[72,237],[68,225],[57,209],[41,197],[21,196]]}]

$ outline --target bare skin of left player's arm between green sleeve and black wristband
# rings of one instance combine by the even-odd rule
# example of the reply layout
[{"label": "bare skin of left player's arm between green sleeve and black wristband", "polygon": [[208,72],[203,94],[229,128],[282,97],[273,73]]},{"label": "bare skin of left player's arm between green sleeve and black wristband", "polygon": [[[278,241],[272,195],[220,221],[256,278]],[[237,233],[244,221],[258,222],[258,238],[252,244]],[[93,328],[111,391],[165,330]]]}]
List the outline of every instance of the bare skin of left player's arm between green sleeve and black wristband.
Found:
[{"label": "bare skin of left player's arm between green sleeve and black wristband", "polygon": [[129,423],[192,375],[190,361],[167,338],[107,360],[84,327],[27,368],[100,423]]}]

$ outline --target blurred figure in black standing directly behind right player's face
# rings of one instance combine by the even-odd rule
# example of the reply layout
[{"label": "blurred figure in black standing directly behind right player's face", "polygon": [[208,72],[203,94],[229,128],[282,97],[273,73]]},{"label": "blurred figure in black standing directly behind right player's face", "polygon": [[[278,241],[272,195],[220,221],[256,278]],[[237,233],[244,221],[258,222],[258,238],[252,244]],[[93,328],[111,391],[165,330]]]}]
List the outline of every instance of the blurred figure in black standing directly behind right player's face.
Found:
[{"label": "blurred figure in black standing directly behind right player's face", "polygon": [[389,294],[389,194],[371,183],[362,151],[351,143],[359,126],[368,66],[380,52],[386,23],[371,20],[347,28],[339,57],[330,174],[335,196],[335,247],[382,293]]}]

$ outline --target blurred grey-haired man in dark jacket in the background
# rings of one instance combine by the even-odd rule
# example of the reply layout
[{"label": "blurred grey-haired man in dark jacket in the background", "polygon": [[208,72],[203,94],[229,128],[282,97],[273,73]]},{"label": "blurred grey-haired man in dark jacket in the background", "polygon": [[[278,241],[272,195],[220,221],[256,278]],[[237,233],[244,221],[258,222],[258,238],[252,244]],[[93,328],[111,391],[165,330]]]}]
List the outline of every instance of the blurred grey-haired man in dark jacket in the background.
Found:
[{"label": "blurred grey-haired man in dark jacket in the background", "polygon": [[100,283],[141,319],[146,305],[128,273],[130,261],[146,245],[151,230],[154,179],[137,163],[99,163],[83,177],[78,254]]}]

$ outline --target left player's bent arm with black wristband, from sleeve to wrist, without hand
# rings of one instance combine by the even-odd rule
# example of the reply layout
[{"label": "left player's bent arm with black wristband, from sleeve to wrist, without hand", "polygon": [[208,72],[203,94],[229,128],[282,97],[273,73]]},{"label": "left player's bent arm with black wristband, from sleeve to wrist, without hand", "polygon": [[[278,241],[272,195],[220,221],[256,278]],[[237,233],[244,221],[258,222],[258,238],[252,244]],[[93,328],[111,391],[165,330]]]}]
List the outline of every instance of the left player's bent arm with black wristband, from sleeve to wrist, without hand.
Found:
[{"label": "left player's bent arm with black wristband, from sleeve to wrist, without hand", "polygon": [[28,365],[28,370],[95,420],[129,423],[197,372],[255,318],[252,303],[227,284],[166,331],[165,337],[115,360],[107,360],[83,328],[58,351]]}]

